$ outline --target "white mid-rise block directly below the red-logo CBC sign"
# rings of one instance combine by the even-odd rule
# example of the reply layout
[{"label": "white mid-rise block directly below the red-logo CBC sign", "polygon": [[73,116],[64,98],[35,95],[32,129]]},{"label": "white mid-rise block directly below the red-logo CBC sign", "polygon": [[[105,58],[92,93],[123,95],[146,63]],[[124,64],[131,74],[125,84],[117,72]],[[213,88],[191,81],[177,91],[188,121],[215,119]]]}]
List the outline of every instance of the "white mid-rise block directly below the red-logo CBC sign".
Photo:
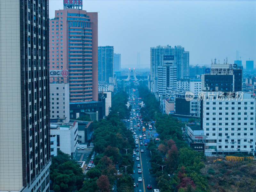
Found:
[{"label": "white mid-rise block directly below the red-logo CBC sign", "polygon": [[51,118],[66,117],[69,122],[69,84],[50,83]]}]

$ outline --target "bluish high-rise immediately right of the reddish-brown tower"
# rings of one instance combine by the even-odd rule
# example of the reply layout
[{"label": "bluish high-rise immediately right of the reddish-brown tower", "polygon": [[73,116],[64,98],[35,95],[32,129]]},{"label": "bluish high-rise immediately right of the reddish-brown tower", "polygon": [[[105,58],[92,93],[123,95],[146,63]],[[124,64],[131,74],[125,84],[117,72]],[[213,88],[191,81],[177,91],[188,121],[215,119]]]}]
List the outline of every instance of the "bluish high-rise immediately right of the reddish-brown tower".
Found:
[{"label": "bluish high-rise immediately right of the reddish-brown tower", "polygon": [[98,79],[108,81],[109,77],[114,77],[114,47],[98,47]]}]

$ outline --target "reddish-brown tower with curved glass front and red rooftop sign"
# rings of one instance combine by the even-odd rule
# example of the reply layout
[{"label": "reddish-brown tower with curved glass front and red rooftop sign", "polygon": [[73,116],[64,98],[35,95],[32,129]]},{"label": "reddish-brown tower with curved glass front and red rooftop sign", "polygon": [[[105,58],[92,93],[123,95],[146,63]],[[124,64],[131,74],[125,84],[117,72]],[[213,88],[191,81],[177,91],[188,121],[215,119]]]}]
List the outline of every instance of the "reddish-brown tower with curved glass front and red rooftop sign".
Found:
[{"label": "reddish-brown tower with curved glass front and red rooftop sign", "polygon": [[98,101],[98,13],[64,0],[49,20],[51,82],[69,83],[69,100]]}]

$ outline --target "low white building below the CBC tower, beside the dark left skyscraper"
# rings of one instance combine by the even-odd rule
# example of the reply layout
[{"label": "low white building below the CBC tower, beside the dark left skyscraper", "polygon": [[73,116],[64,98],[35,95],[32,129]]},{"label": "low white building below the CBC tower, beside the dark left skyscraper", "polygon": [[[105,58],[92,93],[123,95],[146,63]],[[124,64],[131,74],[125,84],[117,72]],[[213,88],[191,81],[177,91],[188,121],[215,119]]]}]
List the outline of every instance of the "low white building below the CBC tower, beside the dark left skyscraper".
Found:
[{"label": "low white building below the CBC tower, beside the dark left skyscraper", "polygon": [[57,149],[70,156],[76,156],[78,123],[51,124],[51,137],[57,137]]}]

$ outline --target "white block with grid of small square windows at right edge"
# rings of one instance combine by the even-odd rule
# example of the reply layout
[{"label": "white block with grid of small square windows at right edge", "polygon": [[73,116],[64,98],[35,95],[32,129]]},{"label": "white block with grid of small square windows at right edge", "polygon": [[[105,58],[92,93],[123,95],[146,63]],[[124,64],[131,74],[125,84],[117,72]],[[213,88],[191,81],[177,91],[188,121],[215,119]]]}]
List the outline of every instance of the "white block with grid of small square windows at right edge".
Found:
[{"label": "white block with grid of small square windows at right edge", "polygon": [[255,98],[249,92],[205,92],[201,105],[205,155],[253,153]]}]

